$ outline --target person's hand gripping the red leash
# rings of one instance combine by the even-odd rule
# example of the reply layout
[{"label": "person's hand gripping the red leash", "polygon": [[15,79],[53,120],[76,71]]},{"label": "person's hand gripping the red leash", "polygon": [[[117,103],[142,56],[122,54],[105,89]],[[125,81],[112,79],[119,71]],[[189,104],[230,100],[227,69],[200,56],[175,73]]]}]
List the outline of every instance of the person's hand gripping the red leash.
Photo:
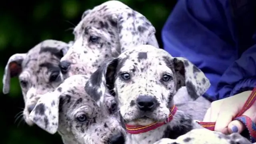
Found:
[{"label": "person's hand gripping the red leash", "polygon": [[[222,100],[212,102],[211,107],[207,110],[203,122],[216,122],[214,131],[223,134],[233,132],[241,133],[246,127],[238,120],[233,120],[242,110],[244,103],[252,91],[245,91]],[[242,115],[246,115],[256,122],[256,104],[254,103]]]}]

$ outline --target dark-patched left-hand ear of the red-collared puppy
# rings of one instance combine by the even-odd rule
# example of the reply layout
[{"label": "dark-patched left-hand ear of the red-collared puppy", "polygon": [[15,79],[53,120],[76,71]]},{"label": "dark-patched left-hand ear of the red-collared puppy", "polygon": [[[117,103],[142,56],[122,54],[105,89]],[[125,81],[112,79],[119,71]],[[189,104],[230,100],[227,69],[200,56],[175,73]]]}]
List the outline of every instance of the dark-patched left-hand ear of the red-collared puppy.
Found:
[{"label": "dark-patched left-hand ear of the red-collared puppy", "polygon": [[117,63],[118,58],[109,58],[102,63],[100,68],[92,73],[86,82],[84,89],[94,100],[98,101],[102,94],[105,93],[105,90],[109,90],[111,91],[110,94],[113,94],[112,90],[114,89],[114,75]]}]

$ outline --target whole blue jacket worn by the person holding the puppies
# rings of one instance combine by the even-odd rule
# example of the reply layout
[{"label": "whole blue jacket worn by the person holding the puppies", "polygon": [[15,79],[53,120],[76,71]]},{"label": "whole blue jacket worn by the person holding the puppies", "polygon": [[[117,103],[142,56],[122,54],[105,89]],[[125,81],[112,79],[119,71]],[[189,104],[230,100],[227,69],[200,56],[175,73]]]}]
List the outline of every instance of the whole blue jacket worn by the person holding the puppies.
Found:
[{"label": "whole blue jacket worn by the person holding the puppies", "polygon": [[[236,2],[237,1],[237,2]],[[256,0],[178,0],[162,29],[164,49],[185,57],[218,100],[256,86]]]}]

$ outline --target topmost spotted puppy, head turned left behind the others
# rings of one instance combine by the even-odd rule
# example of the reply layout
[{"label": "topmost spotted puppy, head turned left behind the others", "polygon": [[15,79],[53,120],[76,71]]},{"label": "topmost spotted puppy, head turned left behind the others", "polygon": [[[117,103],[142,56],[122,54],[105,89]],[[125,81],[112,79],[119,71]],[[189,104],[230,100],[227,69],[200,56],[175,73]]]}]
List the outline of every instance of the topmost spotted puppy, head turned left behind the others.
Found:
[{"label": "topmost spotted puppy, head turned left behind the others", "polygon": [[74,45],[61,59],[62,78],[90,76],[102,62],[129,46],[150,44],[158,48],[155,32],[145,16],[117,0],[86,10],[74,28]]}]

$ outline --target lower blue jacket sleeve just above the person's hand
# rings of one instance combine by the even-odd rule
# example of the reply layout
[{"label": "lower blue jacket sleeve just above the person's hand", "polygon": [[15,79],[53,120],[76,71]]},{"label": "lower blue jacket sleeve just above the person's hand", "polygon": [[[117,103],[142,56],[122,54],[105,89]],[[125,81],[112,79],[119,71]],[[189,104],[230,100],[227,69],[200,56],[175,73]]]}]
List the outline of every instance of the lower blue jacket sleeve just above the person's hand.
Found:
[{"label": "lower blue jacket sleeve just above the person's hand", "polygon": [[218,83],[219,99],[256,87],[256,45],[246,50],[224,72]]}]

